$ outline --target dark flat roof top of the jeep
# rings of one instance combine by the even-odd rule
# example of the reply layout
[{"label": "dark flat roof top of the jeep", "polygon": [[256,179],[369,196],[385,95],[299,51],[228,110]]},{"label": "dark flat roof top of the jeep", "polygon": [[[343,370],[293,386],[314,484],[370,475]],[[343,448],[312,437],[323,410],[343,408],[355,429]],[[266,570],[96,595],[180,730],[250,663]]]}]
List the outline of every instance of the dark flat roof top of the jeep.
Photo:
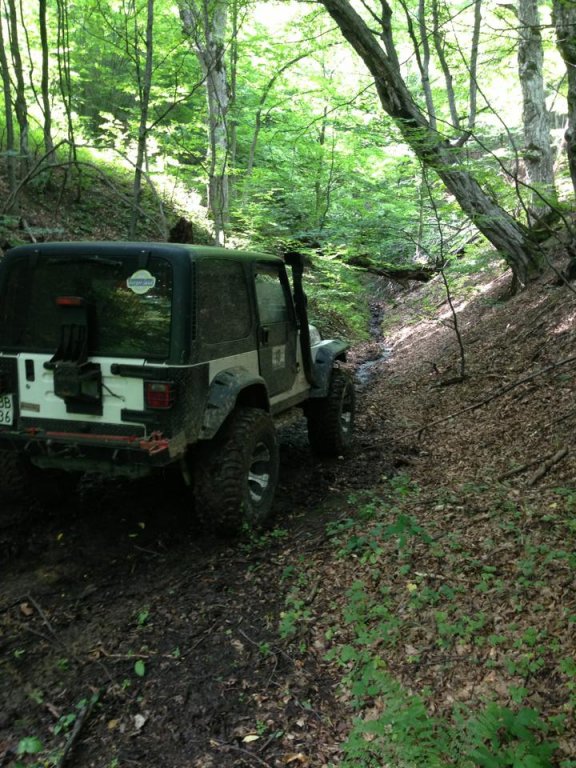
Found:
[{"label": "dark flat roof top of the jeep", "polygon": [[106,241],[66,241],[50,243],[30,243],[17,245],[6,252],[6,256],[16,257],[30,254],[45,254],[58,256],[108,256],[122,258],[138,254],[154,254],[168,258],[181,259],[187,256],[190,261],[209,259],[230,259],[232,261],[268,261],[282,263],[279,256],[255,251],[242,251],[232,248],[221,248],[211,245],[187,245],[182,243],[164,242],[130,242],[123,240]]}]

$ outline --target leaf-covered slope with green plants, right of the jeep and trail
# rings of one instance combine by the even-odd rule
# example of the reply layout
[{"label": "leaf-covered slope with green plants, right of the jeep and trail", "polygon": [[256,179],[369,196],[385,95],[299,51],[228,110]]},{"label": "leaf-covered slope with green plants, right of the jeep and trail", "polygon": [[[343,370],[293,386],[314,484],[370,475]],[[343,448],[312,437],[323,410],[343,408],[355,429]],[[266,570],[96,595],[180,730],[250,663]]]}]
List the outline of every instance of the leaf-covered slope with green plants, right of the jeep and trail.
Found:
[{"label": "leaf-covered slope with green plants, right of the jeep and trail", "polygon": [[552,271],[509,284],[493,265],[455,300],[463,381],[439,278],[385,319],[362,423],[397,474],[333,529],[359,760],[576,758],[576,295]]}]

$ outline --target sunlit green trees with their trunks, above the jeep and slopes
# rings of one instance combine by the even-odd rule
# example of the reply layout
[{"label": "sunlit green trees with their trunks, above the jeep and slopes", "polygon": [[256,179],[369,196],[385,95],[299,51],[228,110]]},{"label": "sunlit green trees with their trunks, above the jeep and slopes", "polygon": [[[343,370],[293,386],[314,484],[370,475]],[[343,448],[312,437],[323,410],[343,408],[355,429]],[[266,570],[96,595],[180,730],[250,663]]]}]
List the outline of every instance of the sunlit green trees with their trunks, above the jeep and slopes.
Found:
[{"label": "sunlit green trees with their trunks, above the jeep and slopes", "polygon": [[[9,194],[133,175],[205,237],[375,269],[487,239],[520,284],[574,188],[565,0],[3,0]],[[68,169],[69,172],[63,171]],[[146,215],[150,215],[147,213]],[[480,238],[480,239],[478,239]]]}]

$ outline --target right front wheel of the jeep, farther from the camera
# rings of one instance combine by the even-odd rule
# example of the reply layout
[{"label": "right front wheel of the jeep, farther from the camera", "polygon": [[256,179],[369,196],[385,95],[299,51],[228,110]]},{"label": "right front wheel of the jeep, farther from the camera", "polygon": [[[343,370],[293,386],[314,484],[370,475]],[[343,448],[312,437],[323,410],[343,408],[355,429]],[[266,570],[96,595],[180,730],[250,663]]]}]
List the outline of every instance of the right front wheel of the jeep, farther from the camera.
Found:
[{"label": "right front wheel of the jeep, farther from the camera", "polygon": [[328,395],[306,406],[308,439],[314,453],[339,456],[352,442],[355,410],[354,383],[341,368],[332,371]]}]

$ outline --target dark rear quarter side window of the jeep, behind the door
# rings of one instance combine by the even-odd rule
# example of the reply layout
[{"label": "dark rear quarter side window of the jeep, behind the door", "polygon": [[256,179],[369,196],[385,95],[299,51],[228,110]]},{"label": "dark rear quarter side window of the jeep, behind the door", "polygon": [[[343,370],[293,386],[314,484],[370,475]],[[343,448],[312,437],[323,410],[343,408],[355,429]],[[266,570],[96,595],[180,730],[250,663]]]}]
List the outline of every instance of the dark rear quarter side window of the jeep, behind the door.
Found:
[{"label": "dark rear quarter side window of the jeep, behind the door", "polygon": [[198,264],[198,330],[201,341],[218,344],[250,333],[250,302],[242,264],[225,259]]}]

